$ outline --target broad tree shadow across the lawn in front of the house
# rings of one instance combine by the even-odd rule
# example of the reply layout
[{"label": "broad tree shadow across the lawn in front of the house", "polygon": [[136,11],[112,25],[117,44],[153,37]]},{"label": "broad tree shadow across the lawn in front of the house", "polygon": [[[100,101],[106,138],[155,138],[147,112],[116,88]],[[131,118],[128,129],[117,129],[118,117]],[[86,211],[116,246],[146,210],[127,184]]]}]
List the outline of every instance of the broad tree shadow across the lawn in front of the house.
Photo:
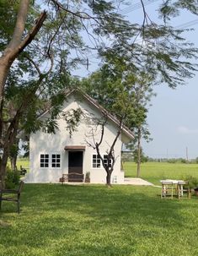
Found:
[{"label": "broad tree shadow across the lawn in front of the house", "polygon": [[[195,199],[161,199],[160,188],[137,186],[70,186],[59,184],[26,184],[22,194],[22,214],[40,212],[78,212],[94,221],[133,221],[134,217],[150,219],[154,224],[184,224],[181,210],[193,210]],[[23,213],[24,205],[24,213]],[[10,207],[8,210],[9,211]],[[64,217],[64,216],[62,216]],[[164,221],[164,218],[166,221]],[[98,220],[97,220],[98,219]],[[169,221],[170,220],[170,221]],[[135,220],[134,220],[135,221]],[[161,222],[162,221],[162,222]],[[171,223],[170,223],[171,225]]]}]

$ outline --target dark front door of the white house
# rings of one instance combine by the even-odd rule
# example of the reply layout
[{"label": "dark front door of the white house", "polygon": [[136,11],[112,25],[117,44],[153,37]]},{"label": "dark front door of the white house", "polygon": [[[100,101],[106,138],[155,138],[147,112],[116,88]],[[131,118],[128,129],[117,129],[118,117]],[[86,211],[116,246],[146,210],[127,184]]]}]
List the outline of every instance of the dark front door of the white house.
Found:
[{"label": "dark front door of the white house", "polygon": [[68,154],[68,181],[83,182],[83,151],[69,151]]}]

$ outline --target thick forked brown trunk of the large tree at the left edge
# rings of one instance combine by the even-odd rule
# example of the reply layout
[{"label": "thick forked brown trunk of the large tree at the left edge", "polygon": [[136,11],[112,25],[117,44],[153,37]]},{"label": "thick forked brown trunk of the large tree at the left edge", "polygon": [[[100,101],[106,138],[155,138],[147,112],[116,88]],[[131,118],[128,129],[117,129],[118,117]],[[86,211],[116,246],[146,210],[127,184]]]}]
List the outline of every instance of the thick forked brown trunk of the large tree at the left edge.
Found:
[{"label": "thick forked brown trunk of the large tree at the left edge", "polygon": [[[4,186],[10,146],[12,145],[13,140],[16,139],[17,134],[17,131],[13,130],[9,132],[3,131],[3,98],[6,80],[8,78],[9,69],[13,64],[13,61],[19,56],[19,53],[23,52],[24,48],[35,39],[35,35],[37,35],[37,33],[39,32],[46,18],[46,12],[40,14],[40,17],[39,19],[37,19],[32,30],[23,38],[25,23],[29,12],[29,2],[29,0],[20,0],[12,39],[8,43],[8,46],[3,52],[2,57],[0,57],[0,141],[1,150],[3,150],[3,156],[0,159],[0,186],[2,187]],[[18,126],[14,126],[14,128],[18,129]],[[4,132],[7,133],[5,138],[3,138]],[[12,137],[12,139],[10,139],[10,136]]]}]

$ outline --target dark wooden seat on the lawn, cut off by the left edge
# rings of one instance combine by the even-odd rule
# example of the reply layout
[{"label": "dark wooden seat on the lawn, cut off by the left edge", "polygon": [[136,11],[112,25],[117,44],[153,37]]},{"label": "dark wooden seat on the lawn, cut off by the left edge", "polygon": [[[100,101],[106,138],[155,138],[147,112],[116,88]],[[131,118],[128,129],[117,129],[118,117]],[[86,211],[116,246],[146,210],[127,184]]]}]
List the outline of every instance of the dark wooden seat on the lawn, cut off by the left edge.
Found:
[{"label": "dark wooden seat on the lawn, cut off by the left edge", "polygon": [[[24,182],[19,183],[18,189],[0,189],[0,210],[2,210],[2,201],[16,202],[17,212],[20,210],[20,193],[24,186]],[[12,196],[10,196],[10,194]]]}]

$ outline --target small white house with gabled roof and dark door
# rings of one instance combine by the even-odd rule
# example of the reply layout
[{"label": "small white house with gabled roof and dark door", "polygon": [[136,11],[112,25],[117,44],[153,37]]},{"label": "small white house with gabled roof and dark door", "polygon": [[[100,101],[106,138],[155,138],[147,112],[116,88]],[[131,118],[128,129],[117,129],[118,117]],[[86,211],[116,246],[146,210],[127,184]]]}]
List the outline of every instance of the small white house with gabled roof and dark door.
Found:
[{"label": "small white house with gabled roof and dark door", "polygon": [[[62,174],[78,172],[85,176],[86,172],[89,172],[90,182],[105,183],[106,172],[96,150],[90,146],[94,142],[93,139],[97,141],[100,138],[101,128],[96,127],[94,120],[103,117],[104,108],[88,95],[72,90],[67,93],[67,101],[62,106],[62,112],[77,109],[81,109],[83,117],[77,130],[72,133],[72,137],[68,133],[67,123],[62,114],[57,120],[59,129],[55,134],[42,131],[30,134],[29,173],[25,177],[25,182],[59,182]],[[45,112],[40,118],[45,118],[49,114],[50,111]],[[108,113],[107,118],[104,139],[100,146],[101,155],[106,155],[110,150],[110,145],[119,128],[119,122],[115,117]],[[111,182],[120,184],[124,182],[124,172],[120,168],[121,147],[122,143],[127,143],[131,139],[133,139],[131,131],[123,127],[115,144],[116,161]]]}]

